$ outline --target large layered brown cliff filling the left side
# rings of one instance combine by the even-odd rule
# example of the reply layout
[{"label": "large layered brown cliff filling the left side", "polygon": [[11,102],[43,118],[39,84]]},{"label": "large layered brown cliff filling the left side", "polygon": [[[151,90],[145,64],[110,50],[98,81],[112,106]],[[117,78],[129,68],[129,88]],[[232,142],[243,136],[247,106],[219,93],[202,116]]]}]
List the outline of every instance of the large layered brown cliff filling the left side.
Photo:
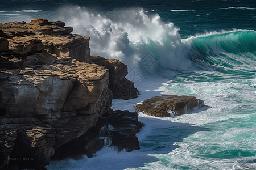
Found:
[{"label": "large layered brown cliff filling the left side", "polygon": [[57,148],[84,135],[102,115],[113,114],[109,82],[124,79],[127,66],[90,59],[90,38],[72,31],[42,18],[0,23],[2,167],[10,158],[31,158],[41,169]]}]

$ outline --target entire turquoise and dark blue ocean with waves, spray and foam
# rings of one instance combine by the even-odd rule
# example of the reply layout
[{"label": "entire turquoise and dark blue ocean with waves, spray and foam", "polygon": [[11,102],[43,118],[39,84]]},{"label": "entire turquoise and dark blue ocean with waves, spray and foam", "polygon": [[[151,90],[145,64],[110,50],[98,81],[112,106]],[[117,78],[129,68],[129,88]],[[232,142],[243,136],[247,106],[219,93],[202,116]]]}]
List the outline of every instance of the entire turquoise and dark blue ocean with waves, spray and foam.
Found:
[{"label": "entire turquoise and dark blue ocean with waves, spray and foam", "polygon": [[196,96],[205,107],[177,117],[139,113],[141,150],[108,144],[52,169],[256,169],[256,2],[232,0],[10,0],[0,22],[61,20],[90,36],[93,55],[121,59],[140,94],[114,99],[134,111],[156,95]]}]

